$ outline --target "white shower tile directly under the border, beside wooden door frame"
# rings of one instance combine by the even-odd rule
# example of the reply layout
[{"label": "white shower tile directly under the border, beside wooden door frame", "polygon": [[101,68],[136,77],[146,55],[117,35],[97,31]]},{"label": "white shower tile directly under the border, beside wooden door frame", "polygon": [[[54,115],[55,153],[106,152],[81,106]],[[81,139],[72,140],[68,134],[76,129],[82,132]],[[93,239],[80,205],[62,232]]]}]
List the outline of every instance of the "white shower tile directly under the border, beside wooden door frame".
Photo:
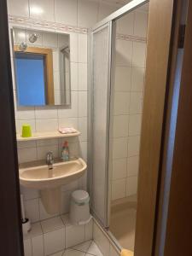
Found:
[{"label": "white shower tile directly under the border, beside wooden door frame", "polygon": [[133,42],[132,67],[145,67],[146,44]]}]

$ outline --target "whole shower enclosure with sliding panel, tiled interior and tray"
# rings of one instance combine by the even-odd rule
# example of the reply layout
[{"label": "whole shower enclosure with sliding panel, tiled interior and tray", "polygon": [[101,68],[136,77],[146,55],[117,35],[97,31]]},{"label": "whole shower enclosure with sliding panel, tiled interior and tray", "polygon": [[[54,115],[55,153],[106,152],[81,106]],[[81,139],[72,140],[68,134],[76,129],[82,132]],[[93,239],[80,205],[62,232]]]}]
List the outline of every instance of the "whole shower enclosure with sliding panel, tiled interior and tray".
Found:
[{"label": "whole shower enclosure with sliding panel, tiled interior and tray", "polygon": [[[144,26],[142,22],[139,29],[144,32],[137,36],[134,35],[137,26],[131,27],[131,22],[135,22],[138,15],[133,12],[146,3],[148,1],[134,0],[126,4],[94,26],[89,38],[91,210],[117,246],[132,250],[143,105],[143,85],[138,84],[143,84],[145,71],[147,22]],[[139,19],[143,20],[140,16]],[[132,85],[133,79],[137,79],[137,86]],[[118,226],[122,230],[122,218],[131,223],[131,245],[126,236],[121,239],[118,234]]]}]

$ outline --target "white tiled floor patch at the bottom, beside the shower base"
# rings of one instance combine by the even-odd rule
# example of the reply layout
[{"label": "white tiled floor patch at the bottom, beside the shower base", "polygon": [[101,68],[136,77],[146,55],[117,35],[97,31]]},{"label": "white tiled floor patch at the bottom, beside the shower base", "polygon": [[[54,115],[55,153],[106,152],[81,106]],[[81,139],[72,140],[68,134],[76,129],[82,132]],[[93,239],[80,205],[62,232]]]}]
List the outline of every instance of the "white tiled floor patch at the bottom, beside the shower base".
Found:
[{"label": "white tiled floor patch at the bottom, beside the shower base", "polygon": [[102,256],[102,253],[96,246],[96,243],[90,240],[50,256]]}]

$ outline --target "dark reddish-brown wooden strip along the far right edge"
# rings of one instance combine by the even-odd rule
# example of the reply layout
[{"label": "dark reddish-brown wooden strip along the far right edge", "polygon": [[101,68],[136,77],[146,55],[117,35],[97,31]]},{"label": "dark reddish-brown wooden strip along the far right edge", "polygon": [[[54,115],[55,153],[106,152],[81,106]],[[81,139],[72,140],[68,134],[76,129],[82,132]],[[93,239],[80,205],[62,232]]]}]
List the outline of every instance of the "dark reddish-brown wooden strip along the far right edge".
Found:
[{"label": "dark reddish-brown wooden strip along the far right edge", "polygon": [[[178,5],[183,3],[181,24],[185,24],[185,30],[180,29],[182,40],[178,41],[178,48],[180,55],[182,54],[182,65],[179,63],[177,67],[172,70],[172,76],[175,79],[172,81],[172,86],[175,91],[179,91],[179,97],[172,97],[172,101],[177,100],[177,113],[174,108],[170,108],[169,115],[166,120],[166,130],[172,127],[170,116],[176,116],[174,120],[174,141],[172,143],[172,158],[166,155],[163,159],[163,177],[162,186],[165,184],[166,174],[169,177],[169,198],[167,206],[166,230],[164,234],[164,250],[162,251],[165,256],[173,256],[178,252],[182,255],[192,255],[192,2],[191,1],[178,1]],[[182,26],[183,27],[183,26]],[[181,33],[182,32],[182,33]],[[180,57],[181,59],[181,57]],[[180,61],[181,62],[181,61]],[[178,75],[179,74],[179,75]],[[177,85],[179,83],[179,86]],[[170,106],[169,106],[170,107]],[[172,120],[172,119],[171,119]],[[169,122],[170,121],[170,122]],[[170,124],[171,123],[171,124]],[[168,143],[168,132],[165,136],[166,151]],[[169,168],[166,168],[166,162],[169,163]],[[163,188],[161,189],[163,190]],[[156,255],[159,255],[156,253]]]}]

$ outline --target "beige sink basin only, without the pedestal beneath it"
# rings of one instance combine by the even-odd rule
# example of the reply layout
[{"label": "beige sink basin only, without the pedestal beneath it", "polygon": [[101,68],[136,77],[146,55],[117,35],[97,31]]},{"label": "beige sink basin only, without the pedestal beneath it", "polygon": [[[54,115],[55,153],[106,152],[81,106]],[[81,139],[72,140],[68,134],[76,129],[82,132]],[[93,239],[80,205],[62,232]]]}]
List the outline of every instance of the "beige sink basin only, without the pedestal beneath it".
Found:
[{"label": "beige sink basin only, without the pedestal beneath it", "polygon": [[54,189],[81,177],[87,165],[81,158],[56,163],[53,169],[38,166],[20,169],[20,184],[31,189]]}]

